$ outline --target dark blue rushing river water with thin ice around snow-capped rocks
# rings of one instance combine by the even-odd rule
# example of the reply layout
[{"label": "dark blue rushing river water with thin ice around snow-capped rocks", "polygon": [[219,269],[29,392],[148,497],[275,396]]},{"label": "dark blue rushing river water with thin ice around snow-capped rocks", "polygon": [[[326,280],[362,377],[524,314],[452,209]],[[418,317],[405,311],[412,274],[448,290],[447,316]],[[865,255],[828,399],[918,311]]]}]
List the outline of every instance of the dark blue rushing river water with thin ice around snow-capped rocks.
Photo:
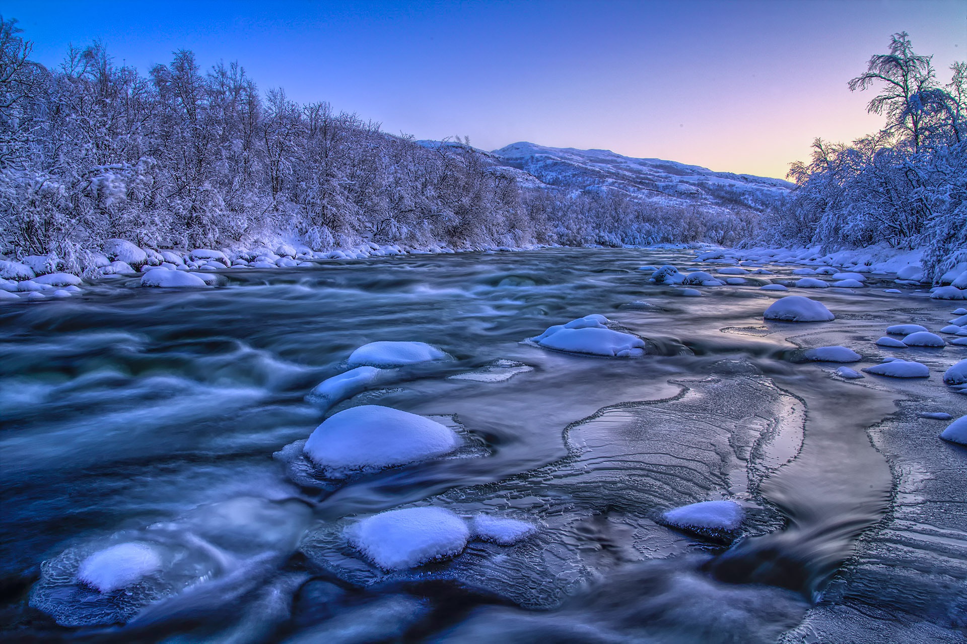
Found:
[{"label": "dark blue rushing river water with thin ice around snow-capped rocks", "polygon": [[[219,288],[192,292],[122,278],[5,307],[0,636],[963,641],[967,452],[918,414],[967,412],[939,378],[964,350],[890,352],[931,367],[917,382],[844,381],[801,351],[842,344],[879,362],[887,351],[872,340],[888,324],[933,329],[952,307],[884,294],[894,284],[874,277],[874,288],[806,293],[835,322],[764,324],[782,294],[757,286],[792,267],[702,298],[636,270],[689,258],[324,262],[226,271]],[[522,341],[589,313],[644,338],[647,355]],[[305,400],[383,339],[456,360],[401,369],[326,413]],[[366,402],[441,420],[469,447],[343,483],[285,457],[325,416]],[[718,498],[747,511],[731,545],[661,524],[665,510]],[[345,542],[356,516],[408,505],[540,529],[396,573]],[[109,597],[76,583],[80,560],[126,540],[163,545],[159,579]]]}]

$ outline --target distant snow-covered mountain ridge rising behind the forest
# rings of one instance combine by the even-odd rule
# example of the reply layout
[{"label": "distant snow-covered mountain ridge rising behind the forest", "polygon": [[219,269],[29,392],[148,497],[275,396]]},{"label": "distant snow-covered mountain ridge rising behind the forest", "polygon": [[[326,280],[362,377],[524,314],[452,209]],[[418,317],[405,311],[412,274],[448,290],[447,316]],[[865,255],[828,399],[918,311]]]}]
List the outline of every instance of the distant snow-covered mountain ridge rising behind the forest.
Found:
[{"label": "distant snow-covered mountain ridge rising behind the forest", "polygon": [[618,190],[644,199],[741,202],[761,207],[792,188],[781,179],[714,172],[698,165],[632,159],[609,150],[549,148],[513,143],[491,153],[500,164],[526,171],[549,186],[571,190]]}]

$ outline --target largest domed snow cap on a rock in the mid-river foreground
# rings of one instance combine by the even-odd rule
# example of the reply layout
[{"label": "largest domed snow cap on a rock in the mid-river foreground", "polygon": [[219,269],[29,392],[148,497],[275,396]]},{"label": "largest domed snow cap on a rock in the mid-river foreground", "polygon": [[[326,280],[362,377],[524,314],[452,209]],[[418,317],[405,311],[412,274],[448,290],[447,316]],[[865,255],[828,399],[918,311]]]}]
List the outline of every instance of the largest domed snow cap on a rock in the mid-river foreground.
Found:
[{"label": "largest domed snow cap on a rock in the mid-river foreground", "polygon": [[341,479],[354,470],[411,463],[458,446],[454,432],[436,421],[392,407],[362,405],[323,421],[304,450],[327,477]]}]

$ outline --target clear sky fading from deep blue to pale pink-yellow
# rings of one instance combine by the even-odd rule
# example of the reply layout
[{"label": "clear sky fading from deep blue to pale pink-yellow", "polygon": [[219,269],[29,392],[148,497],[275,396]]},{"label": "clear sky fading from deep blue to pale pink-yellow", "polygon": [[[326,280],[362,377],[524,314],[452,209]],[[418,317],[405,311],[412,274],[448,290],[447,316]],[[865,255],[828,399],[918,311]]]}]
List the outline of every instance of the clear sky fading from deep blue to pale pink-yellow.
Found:
[{"label": "clear sky fading from deep blue to pale pink-yellow", "polygon": [[[967,58],[967,3],[55,2],[5,0],[55,66],[100,39],[146,72],[191,49],[238,60],[259,87],[418,138],[469,135],[606,148],[783,176],[815,136],[882,120],[846,81],[910,33],[945,80]],[[867,93],[868,94],[868,93]]]}]

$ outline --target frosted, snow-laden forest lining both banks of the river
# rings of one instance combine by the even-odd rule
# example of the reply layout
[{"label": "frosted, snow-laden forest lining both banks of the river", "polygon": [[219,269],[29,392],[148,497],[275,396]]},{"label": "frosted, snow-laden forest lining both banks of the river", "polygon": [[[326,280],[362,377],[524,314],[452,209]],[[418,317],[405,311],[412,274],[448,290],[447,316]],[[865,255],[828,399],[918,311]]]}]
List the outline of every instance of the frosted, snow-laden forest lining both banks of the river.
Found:
[{"label": "frosted, snow-laden forest lining both banks of the river", "polygon": [[885,242],[929,246],[924,264],[939,273],[967,259],[967,65],[941,84],[906,34],[849,85],[881,92],[869,109],[887,117],[882,132],[817,139],[812,161],[792,165],[794,190],[710,186],[714,203],[542,183],[467,139],[383,132],[327,102],[262,92],[237,63],[203,71],[187,50],[147,76],[101,43],[72,47],[57,69],[30,55],[0,18],[0,252],[66,270],[113,238],[314,251]]}]

